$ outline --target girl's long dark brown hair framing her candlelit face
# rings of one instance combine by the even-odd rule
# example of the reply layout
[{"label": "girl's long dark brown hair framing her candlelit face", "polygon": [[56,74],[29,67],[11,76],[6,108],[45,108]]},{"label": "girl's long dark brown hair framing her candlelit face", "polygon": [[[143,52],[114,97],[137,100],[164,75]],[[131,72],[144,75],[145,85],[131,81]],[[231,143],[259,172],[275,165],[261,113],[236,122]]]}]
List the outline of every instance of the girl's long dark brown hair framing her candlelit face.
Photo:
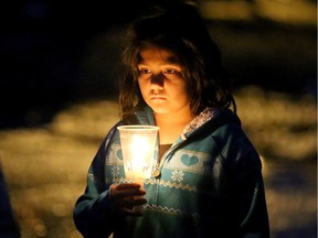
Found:
[{"label": "girl's long dark brown hair framing her candlelit face", "polygon": [[171,51],[184,67],[183,74],[191,88],[191,110],[200,113],[205,107],[233,107],[230,80],[222,66],[221,53],[212,41],[197,8],[180,3],[170,8],[153,8],[130,26],[130,44],[124,52],[126,72],[120,82],[121,117],[134,113],[146,105],[138,86],[137,64],[140,52],[149,46]]}]

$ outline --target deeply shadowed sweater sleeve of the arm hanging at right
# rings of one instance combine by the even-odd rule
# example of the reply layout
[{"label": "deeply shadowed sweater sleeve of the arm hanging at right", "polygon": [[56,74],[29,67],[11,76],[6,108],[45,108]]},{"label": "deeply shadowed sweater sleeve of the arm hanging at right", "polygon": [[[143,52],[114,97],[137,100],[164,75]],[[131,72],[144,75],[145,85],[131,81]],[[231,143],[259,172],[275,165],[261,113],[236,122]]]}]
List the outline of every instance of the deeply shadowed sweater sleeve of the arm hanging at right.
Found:
[{"label": "deeply shadowed sweater sleeve of the arm hanging at right", "polygon": [[[235,129],[233,129],[235,131]],[[246,134],[236,127],[226,156],[231,161],[234,214],[241,220],[242,237],[268,238],[269,224],[265,199],[262,161]]]}]

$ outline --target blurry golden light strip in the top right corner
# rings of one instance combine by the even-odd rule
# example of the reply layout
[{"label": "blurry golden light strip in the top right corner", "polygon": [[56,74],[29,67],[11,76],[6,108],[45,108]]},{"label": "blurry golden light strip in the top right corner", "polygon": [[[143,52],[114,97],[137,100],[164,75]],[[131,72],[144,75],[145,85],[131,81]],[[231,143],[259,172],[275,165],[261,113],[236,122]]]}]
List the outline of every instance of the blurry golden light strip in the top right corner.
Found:
[{"label": "blurry golden light strip in the top right corner", "polygon": [[317,24],[317,3],[309,0],[199,0],[198,6],[205,19],[251,21],[263,18],[280,23]]}]

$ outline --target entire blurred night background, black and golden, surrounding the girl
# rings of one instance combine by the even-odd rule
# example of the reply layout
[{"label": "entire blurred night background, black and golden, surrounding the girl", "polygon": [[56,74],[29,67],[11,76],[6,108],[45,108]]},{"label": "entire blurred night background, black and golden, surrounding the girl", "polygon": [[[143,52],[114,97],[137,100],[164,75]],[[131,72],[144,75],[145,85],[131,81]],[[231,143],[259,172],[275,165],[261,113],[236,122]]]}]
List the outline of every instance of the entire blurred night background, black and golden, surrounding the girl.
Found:
[{"label": "entire blurred night background, black and golden, surrounding the girl", "polygon": [[[117,97],[125,26],[152,1],[1,2],[0,162],[23,237],[82,237],[72,208],[117,120],[115,102],[104,99]],[[198,2],[271,2],[301,18],[312,11],[300,3],[317,8],[315,0]],[[317,237],[317,19],[283,22],[259,8],[237,19],[227,10],[205,20],[263,159],[272,235]]]}]

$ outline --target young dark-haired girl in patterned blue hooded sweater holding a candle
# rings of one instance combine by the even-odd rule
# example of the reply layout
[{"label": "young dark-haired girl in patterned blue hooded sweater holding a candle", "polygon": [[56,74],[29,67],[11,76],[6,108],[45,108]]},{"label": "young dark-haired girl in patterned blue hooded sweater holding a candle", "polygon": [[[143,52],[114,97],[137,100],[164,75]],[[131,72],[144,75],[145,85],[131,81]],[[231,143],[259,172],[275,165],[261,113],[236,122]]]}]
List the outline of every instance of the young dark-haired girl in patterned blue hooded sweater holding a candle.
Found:
[{"label": "young dark-haired girl in patterned blue hooded sweater holding a candle", "polygon": [[[156,11],[130,29],[123,117],[92,162],[75,225],[94,238],[267,238],[262,163],[242,131],[219,48],[194,6]],[[121,125],[160,128],[144,188],[125,178]],[[134,209],[142,204],[142,213]]]}]

